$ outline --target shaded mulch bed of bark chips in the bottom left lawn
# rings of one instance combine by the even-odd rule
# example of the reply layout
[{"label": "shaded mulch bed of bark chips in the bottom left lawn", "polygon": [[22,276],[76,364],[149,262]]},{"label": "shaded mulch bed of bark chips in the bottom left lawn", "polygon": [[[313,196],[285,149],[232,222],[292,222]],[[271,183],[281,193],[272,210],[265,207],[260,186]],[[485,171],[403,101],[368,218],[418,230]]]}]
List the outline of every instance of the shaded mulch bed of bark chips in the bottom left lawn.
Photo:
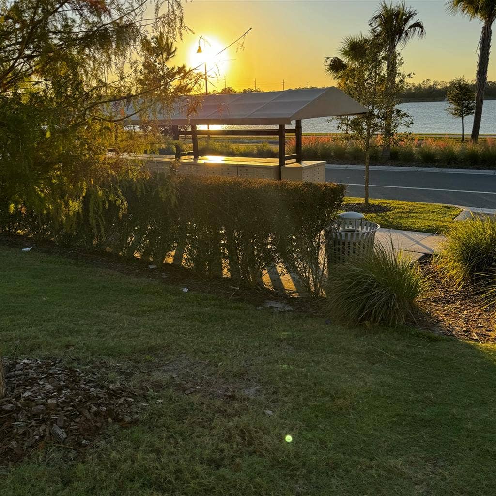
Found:
[{"label": "shaded mulch bed of bark chips in the bottom left lawn", "polygon": [[47,442],[73,452],[92,444],[110,424],[136,420],[136,395],[106,383],[94,370],[55,360],[7,361],[7,396],[0,399],[0,465],[23,459]]}]

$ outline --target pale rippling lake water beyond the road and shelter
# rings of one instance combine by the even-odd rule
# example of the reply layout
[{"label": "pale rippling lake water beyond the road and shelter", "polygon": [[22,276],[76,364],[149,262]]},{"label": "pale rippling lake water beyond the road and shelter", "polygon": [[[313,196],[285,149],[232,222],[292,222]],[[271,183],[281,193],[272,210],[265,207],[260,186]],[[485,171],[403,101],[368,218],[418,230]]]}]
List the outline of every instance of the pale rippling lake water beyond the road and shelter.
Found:
[{"label": "pale rippling lake water beyond the road and shelter", "polygon": [[[462,131],[461,119],[455,119],[446,112],[447,102],[412,102],[402,103],[399,108],[408,112],[413,118],[413,125],[408,129],[414,133],[458,134]],[[465,118],[465,133],[470,135],[473,118]],[[222,126],[226,129],[240,126]],[[259,126],[243,126],[259,127]],[[273,127],[273,126],[262,126]],[[328,122],[325,117],[307,119],[302,122],[303,132],[337,132],[336,123]],[[486,100],[482,111],[481,134],[496,133],[496,100]]]}]

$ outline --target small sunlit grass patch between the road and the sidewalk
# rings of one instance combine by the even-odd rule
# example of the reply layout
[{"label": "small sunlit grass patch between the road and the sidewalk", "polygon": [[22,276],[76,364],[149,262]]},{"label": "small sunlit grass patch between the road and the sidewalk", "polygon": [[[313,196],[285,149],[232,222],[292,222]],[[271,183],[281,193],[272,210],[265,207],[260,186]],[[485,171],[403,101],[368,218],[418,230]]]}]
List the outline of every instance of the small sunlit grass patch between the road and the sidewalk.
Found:
[{"label": "small sunlit grass patch between the road and the sidewalk", "polygon": [[[345,202],[360,203],[363,201],[363,198],[345,198]],[[383,205],[391,208],[391,210],[383,213],[366,214],[367,220],[377,222],[385,228],[423,233],[442,233],[453,225],[454,218],[462,211],[458,207],[437,203],[378,199],[371,199],[370,203],[371,205]]]}]

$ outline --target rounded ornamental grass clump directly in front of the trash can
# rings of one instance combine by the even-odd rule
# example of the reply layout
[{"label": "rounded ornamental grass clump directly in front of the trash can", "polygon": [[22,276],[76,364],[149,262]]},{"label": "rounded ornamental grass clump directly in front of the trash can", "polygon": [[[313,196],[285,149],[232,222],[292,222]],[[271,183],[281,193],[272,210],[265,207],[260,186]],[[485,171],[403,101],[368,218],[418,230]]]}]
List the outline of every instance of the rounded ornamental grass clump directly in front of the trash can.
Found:
[{"label": "rounded ornamental grass clump directly in front of the trash can", "polygon": [[429,286],[408,255],[381,246],[330,270],[326,308],[331,317],[349,324],[404,324]]}]

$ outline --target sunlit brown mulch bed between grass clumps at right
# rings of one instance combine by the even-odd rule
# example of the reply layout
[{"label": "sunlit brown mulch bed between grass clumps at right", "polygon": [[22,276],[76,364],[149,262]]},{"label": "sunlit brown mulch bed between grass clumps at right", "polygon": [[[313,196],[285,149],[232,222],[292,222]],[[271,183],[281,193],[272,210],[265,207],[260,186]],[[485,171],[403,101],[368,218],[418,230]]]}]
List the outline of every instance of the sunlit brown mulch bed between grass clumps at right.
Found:
[{"label": "sunlit brown mulch bed between grass clumps at right", "polygon": [[487,308],[469,289],[459,290],[443,284],[431,265],[430,257],[425,257],[420,263],[433,285],[422,303],[423,314],[415,322],[416,326],[458,339],[495,342],[495,309]]}]

